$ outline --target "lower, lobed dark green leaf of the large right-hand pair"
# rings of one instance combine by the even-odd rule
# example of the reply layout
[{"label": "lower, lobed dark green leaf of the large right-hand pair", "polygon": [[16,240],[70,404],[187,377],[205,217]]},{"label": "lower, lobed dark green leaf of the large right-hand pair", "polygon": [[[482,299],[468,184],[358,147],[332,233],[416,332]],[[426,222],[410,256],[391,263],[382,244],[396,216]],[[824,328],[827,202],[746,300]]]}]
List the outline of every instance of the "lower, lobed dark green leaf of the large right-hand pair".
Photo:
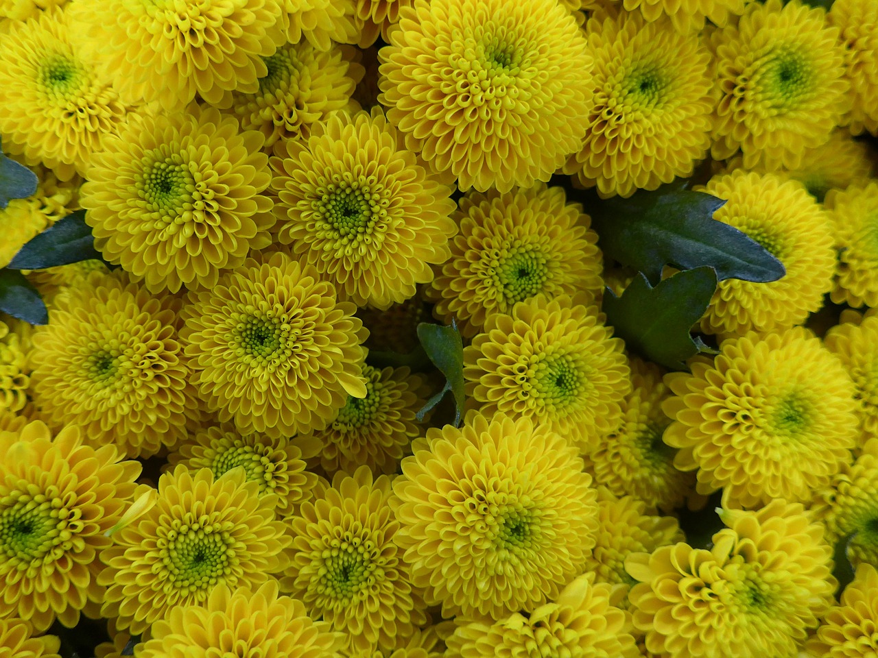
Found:
[{"label": "lower, lobed dark green leaf of the large right-hand pair", "polygon": [[[687,269],[652,288],[643,274],[634,277],[622,297],[606,290],[603,311],[615,335],[659,365],[679,370],[699,351],[689,329],[704,314],[716,290],[713,268]],[[703,345],[703,343],[702,343]]]}]

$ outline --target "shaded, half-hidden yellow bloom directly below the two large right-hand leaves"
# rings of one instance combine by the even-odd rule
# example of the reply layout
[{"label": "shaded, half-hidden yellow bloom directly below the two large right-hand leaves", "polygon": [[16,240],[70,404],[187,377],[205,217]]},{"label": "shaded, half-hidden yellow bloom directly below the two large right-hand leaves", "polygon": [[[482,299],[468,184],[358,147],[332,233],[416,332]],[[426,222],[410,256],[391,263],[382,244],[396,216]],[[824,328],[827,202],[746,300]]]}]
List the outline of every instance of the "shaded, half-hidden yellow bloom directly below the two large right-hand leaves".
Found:
[{"label": "shaded, half-hidden yellow bloom directly below the two large right-hand leaves", "polygon": [[616,497],[633,496],[669,512],[694,490],[694,473],[673,465],[677,451],[662,440],[671,420],[661,411],[670,391],[658,366],[630,358],[631,392],[622,404],[622,422],[584,455],[594,483]]}]

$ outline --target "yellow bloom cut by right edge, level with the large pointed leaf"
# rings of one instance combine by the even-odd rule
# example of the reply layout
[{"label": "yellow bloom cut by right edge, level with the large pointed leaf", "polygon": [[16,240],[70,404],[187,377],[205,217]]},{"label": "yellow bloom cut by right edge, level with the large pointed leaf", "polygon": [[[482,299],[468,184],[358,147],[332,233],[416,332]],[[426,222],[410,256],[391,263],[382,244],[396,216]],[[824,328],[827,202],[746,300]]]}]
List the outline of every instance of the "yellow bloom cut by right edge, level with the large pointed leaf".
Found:
[{"label": "yellow bloom cut by right edge, level with the large pointed leaf", "polygon": [[872,237],[878,219],[878,182],[830,190],[825,204],[839,252],[832,301],[878,306],[878,243]]}]

